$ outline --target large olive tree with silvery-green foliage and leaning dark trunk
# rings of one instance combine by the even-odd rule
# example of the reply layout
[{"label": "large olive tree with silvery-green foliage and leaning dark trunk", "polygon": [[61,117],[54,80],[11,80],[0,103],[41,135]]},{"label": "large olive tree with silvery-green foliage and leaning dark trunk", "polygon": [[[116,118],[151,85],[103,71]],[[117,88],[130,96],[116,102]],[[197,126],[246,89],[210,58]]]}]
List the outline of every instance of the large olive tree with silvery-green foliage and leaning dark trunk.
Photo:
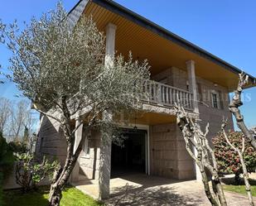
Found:
[{"label": "large olive tree with silvery-green foliage and leaning dark trunk", "polygon": [[10,26],[0,23],[1,41],[12,50],[9,69],[13,82],[38,112],[60,123],[65,136],[65,164],[53,177],[50,205],[60,204],[61,190],[85,141],[83,136],[74,149],[75,131],[82,123],[74,127],[74,117],[83,115],[85,132],[103,127],[108,134],[104,137],[111,136],[115,125],[109,117],[138,108],[142,83],[149,79],[147,61],[138,63],[131,55],[127,60],[122,55],[109,56],[113,64],[105,64],[104,34],[93,20],[81,17],[70,30],[66,17],[59,3],[39,20],[32,18],[23,31],[17,22]]}]

